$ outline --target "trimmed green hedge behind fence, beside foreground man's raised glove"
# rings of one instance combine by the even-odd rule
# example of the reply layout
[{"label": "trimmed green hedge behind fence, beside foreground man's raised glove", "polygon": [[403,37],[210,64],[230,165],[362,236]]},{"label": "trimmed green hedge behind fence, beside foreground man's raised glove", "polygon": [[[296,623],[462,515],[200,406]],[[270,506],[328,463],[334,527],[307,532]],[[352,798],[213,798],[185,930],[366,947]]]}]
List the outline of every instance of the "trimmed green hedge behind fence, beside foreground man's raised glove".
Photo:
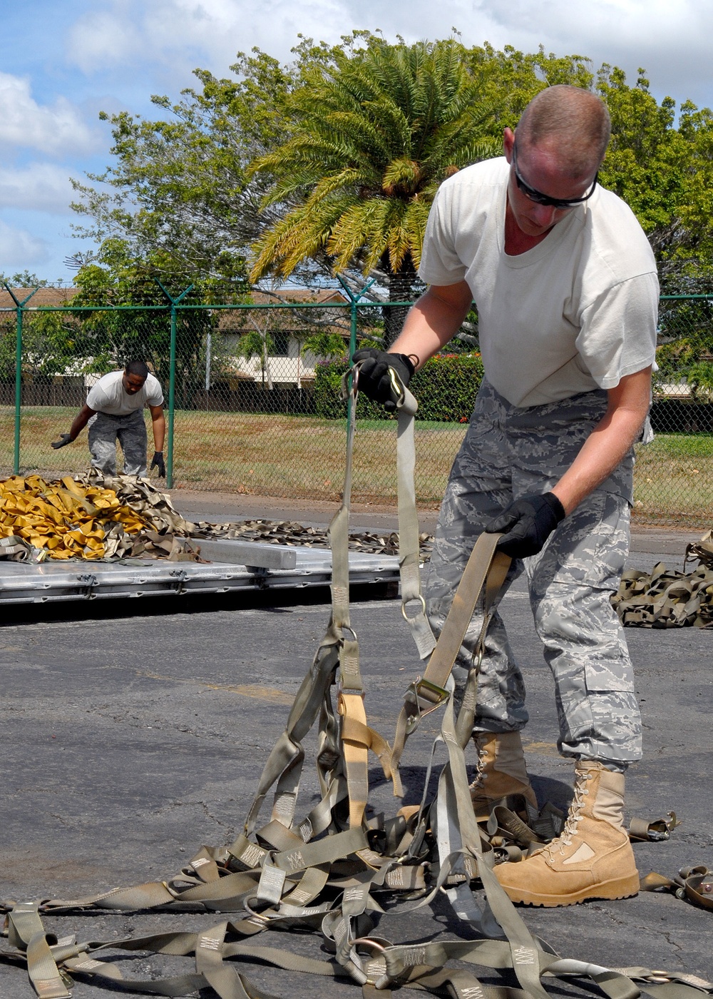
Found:
[{"label": "trimmed green hedge behind fence, beside foreground man's raised glove", "polygon": [[[317,365],[315,413],[327,420],[344,420],[347,404],[340,397],[347,359]],[[467,423],[482,379],[479,354],[441,354],[416,372],[410,390],[418,401],[416,420],[438,423]],[[361,420],[393,420],[382,407],[360,395],[357,417]]]}]

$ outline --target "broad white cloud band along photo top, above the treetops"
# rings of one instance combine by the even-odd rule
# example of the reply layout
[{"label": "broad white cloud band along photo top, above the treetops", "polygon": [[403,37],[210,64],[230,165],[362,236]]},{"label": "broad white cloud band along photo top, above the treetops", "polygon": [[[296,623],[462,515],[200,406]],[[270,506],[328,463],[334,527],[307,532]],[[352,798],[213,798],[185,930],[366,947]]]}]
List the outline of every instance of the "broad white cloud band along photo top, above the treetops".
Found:
[{"label": "broad white cloud band along photo top, above the treetops", "polygon": [[353,28],[382,29],[407,41],[443,38],[457,28],[466,44],[487,40],[526,51],[590,56],[614,63],[633,83],[644,66],[652,89],[713,103],[713,0],[95,0],[69,32],[69,58],[85,73],[145,78],[172,94],[196,66],[226,74],[237,51],[259,46],[290,58],[298,34],[329,42]]}]

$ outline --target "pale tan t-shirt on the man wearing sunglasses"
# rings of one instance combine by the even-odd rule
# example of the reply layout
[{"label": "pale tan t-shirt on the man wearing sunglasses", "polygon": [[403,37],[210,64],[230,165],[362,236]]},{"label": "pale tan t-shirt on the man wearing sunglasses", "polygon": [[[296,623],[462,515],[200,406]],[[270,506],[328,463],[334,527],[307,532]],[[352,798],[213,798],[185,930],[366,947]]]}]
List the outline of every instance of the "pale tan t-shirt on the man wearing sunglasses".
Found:
[{"label": "pale tan t-shirt on the man wearing sunglasses", "polygon": [[485,377],[513,406],[611,389],[654,361],[658,280],[631,210],[597,187],[544,240],[505,254],[509,166],[466,167],[441,184],[419,277],[465,280],[478,313]]}]

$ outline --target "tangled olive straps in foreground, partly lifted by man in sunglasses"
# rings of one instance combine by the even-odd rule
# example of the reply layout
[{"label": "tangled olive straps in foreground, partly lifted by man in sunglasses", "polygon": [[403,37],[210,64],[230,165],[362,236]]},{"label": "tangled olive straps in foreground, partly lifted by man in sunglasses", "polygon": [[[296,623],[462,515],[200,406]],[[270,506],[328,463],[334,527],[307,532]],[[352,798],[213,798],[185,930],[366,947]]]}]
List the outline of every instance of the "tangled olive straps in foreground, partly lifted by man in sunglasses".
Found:
[{"label": "tangled olive straps in foreground, partly lifted by man in sunglasses", "polygon": [[[500,887],[493,867],[506,855],[502,843],[512,845],[519,834],[522,848],[527,849],[542,838],[505,808],[493,811],[486,828],[478,825],[465,765],[477,665],[509,559],[495,551],[499,535],[481,536],[436,642],[425,616],[418,571],[413,494],[416,406],[400,384],[397,388],[401,609],[418,653],[427,663],[406,691],[392,744],[366,719],[358,640],[350,620],[348,523],[356,402],[352,392],[345,496],[330,527],[332,612],[285,731],[265,764],[243,832],[228,846],[202,847],[165,880],[83,898],[0,903],[0,911],[6,913],[7,935],[0,960],[26,967],[43,999],[65,999],[75,980],[152,995],[186,996],[212,988],[221,999],[271,999],[245,975],[245,964],[251,961],[346,978],[356,982],[368,999],[377,994],[387,999],[400,988],[452,999],[548,999],[543,983],[552,978],[573,979],[577,986],[592,983],[597,994],[610,999],[636,999],[641,992],[653,999],[701,999],[702,994],[713,992],[713,983],[693,975],[642,967],[607,968],[560,957],[530,933]],[[456,715],[451,669],[478,601],[483,609],[479,649]],[[402,807],[390,818],[367,819],[369,751],[380,761],[394,794],[400,795],[398,763],[406,740],[421,719],[434,711],[440,712],[440,734],[433,744],[420,803]],[[316,726],[321,800],[305,814],[298,807],[304,740]],[[438,753],[444,761],[437,794],[427,800],[430,769]],[[270,817],[260,821],[271,792]],[[543,831],[549,821],[546,809],[536,818]],[[520,823],[516,832],[508,831],[507,825],[516,826],[516,822]],[[671,816],[668,823],[654,823],[653,830],[642,826],[638,832],[646,838],[665,838],[674,823]],[[689,883],[693,891],[696,884],[713,884],[713,877],[698,868],[689,874]],[[676,890],[681,887],[676,885]],[[477,939],[398,944],[379,935],[379,915],[413,912],[436,895],[449,900],[466,931],[463,935],[471,937],[474,931]],[[45,915],[81,910],[147,909],[237,915],[231,920],[217,920],[214,915],[208,927],[196,932],[177,930],[85,942],[78,942],[75,934],[58,938],[47,932],[42,921]],[[278,946],[258,942],[269,930],[288,929],[313,931],[332,956],[292,953],[284,933]],[[130,979],[124,975],[126,962],[112,960],[117,952],[192,956],[194,967],[164,978]],[[496,970],[506,984],[483,983],[472,966]],[[512,976],[517,987],[511,985]]]}]

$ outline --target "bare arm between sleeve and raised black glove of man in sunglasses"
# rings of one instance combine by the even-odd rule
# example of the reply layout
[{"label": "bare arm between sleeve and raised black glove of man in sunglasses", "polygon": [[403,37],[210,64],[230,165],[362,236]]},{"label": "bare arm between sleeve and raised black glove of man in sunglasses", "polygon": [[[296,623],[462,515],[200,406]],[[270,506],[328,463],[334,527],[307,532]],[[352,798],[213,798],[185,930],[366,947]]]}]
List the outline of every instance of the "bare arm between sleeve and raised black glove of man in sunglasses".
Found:
[{"label": "bare arm between sleeve and raised black glove of man in sunglasses", "polygon": [[461,285],[429,288],[410,309],[403,330],[389,347],[393,354],[417,359],[416,369],[458,332],[472,302],[470,290]]}]

